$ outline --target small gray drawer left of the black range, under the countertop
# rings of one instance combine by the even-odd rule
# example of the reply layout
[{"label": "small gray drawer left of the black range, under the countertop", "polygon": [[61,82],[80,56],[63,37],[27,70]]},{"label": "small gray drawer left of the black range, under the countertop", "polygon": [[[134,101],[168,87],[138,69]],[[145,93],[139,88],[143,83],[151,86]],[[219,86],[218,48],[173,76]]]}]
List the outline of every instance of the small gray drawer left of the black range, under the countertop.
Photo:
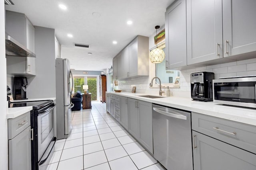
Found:
[{"label": "small gray drawer left of the black range, under the countertop", "polygon": [[16,135],[24,131],[30,126],[30,111],[15,117],[8,119],[8,139],[14,138]]}]

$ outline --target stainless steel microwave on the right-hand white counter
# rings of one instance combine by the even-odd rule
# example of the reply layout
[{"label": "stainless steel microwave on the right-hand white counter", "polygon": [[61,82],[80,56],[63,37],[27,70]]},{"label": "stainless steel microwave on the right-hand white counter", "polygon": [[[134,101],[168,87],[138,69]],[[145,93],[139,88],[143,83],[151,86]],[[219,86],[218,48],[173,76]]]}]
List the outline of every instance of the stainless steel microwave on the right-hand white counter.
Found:
[{"label": "stainless steel microwave on the right-hand white counter", "polygon": [[256,76],[213,80],[213,102],[256,108]]}]

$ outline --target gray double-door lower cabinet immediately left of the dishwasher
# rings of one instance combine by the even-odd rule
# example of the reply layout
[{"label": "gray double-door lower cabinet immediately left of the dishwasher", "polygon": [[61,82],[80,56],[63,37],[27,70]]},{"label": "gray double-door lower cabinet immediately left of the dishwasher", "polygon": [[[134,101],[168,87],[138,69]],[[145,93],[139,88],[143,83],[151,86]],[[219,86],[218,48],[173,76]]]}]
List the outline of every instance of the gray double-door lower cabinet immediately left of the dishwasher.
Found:
[{"label": "gray double-door lower cabinet immediately left of the dishwasher", "polygon": [[152,103],[128,98],[129,132],[153,154]]}]

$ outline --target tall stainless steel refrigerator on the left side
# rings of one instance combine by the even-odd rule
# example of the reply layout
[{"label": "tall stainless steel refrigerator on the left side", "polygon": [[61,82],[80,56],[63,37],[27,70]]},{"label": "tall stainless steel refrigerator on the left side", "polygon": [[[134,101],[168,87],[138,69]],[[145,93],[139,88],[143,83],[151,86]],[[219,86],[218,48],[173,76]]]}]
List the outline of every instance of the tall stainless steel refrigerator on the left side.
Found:
[{"label": "tall stainless steel refrigerator on the left side", "polygon": [[68,59],[56,59],[56,128],[57,139],[67,138],[71,132],[71,94],[73,76]]}]

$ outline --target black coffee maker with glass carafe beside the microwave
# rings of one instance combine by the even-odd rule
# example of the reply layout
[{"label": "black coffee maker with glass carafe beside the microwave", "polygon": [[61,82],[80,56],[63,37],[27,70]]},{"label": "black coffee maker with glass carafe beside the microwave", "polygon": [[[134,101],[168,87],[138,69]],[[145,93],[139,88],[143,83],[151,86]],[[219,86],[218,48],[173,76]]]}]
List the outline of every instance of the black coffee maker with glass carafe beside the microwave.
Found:
[{"label": "black coffee maker with glass carafe beside the microwave", "polygon": [[191,98],[202,102],[212,101],[213,72],[197,72],[190,74]]}]

